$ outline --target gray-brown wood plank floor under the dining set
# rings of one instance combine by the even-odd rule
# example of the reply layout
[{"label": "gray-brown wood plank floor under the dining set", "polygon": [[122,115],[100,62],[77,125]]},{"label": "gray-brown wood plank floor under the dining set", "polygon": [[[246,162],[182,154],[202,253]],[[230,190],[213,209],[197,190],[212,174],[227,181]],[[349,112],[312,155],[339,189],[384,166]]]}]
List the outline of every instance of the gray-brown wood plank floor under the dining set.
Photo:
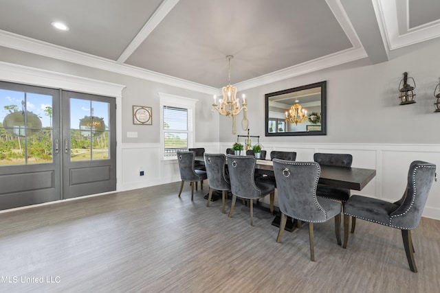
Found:
[{"label": "gray-brown wood plank floor under the dining set", "polygon": [[[358,220],[347,249],[333,220],[285,232],[237,200],[206,207],[180,183],[0,214],[1,292],[439,292],[440,221],[412,233],[419,272],[399,230]],[[230,200],[227,201],[227,213]],[[341,225],[342,228],[342,225]],[[37,281],[39,283],[37,283]],[[43,281],[43,283],[40,283]]]}]

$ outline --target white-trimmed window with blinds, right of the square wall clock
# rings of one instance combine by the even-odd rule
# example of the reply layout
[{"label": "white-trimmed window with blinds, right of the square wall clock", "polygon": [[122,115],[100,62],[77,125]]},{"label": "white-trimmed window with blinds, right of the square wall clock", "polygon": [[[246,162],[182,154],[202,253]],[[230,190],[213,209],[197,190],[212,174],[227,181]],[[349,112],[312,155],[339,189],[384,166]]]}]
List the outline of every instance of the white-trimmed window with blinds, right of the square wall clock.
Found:
[{"label": "white-trimmed window with blinds, right of the square wall clock", "polygon": [[178,150],[188,150],[194,143],[194,119],[197,100],[159,93],[161,108],[161,143],[164,159],[175,159]]}]

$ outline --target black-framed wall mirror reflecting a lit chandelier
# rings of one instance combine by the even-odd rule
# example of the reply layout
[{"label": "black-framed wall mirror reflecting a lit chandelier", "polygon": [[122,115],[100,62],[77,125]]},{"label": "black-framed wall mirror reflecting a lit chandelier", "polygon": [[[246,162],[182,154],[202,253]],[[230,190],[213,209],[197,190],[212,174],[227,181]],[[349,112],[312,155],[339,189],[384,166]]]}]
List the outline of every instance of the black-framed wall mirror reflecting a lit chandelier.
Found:
[{"label": "black-framed wall mirror reflecting a lit chandelier", "polygon": [[327,134],[327,81],[265,94],[266,137]]}]

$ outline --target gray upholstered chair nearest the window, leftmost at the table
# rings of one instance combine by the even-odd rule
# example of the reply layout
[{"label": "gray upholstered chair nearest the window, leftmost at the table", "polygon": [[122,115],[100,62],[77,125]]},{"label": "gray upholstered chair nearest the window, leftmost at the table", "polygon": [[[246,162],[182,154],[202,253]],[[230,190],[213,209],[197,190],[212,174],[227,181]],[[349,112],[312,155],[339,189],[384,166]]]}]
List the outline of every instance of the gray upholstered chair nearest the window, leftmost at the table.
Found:
[{"label": "gray upholstered chair nearest the window, leftmost at the table", "polygon": [[181,185],[179,191],[179,197],[182,189],[184,189],[185,181],[190,182],[191,185],[191,200],[194,200],[194,185],[200,181],[201,189],[203,189],[203,180],[208,178],[206,176],[206,171],[194,168],[194,152],[189,151],[178,151],[177,152],[177,162],[179,163],[179,171],[181,178]]}]

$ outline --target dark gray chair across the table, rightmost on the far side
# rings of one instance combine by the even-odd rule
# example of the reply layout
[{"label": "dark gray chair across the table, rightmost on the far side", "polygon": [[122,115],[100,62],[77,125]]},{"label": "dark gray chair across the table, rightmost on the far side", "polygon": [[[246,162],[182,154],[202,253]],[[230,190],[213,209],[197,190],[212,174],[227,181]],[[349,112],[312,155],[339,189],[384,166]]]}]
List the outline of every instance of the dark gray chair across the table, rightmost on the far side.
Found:
[{"label": "dark gray chair across the table, rightmost on the far side", "polygon": [[[314,154],[314,161],[319,165],[328,165],[336,167],[351,167],[353,156],[351,154],[325,154],[316,152]],[[338,200],[339,202],[346,202],[350,198],[350,189],[330,186],[325,184],[318,184],[316,195],[322,198],[330,198],[331,200]],[[355,231],[356,218],[351,220],[351,233]]]}]

